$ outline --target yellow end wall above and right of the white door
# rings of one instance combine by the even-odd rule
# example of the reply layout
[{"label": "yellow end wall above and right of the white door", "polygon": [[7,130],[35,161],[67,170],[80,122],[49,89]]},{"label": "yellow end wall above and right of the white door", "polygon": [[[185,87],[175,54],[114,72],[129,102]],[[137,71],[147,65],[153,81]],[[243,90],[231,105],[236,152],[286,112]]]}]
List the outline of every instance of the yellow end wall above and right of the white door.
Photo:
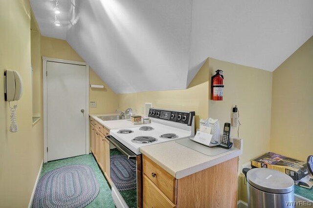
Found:
[{"label": "yellow end wall above and right of the white door", "polygon": [[[85,62],[70,45],[60,39],[41,37],[42,56],[56,59]],[[104,83],[99,76],[89,67],[89,83],[104,85],[104,89],[89,87],[89,101],[97,102],[97,107],[89,107],[89,113],[112,113],[118,106],[118,96]]]}]

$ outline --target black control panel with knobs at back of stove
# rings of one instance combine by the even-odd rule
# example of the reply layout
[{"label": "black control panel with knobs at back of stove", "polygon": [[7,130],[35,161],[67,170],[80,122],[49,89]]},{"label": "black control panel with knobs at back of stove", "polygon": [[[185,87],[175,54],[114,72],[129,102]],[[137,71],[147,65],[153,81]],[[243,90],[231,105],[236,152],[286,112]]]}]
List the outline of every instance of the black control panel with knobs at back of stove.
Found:
[{"label": "black control panel with knobs at back of stove", "polygon": [[150,108],[149,117],[164,119],[172,122],[178,122],[181,124],[191,125],[192,118],[195,116],[195,111],[179,112],[173,110],[162,110],[156,108]]}]

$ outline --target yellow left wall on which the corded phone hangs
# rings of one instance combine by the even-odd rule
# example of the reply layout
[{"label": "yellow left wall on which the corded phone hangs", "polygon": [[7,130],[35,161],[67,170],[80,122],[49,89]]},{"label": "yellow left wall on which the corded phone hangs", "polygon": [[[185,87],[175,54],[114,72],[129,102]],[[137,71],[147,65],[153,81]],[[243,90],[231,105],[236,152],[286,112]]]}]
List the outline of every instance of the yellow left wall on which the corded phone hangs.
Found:
[{"label": "yellow left wall on which the corded phone hangs", "polygon": [[0,99],[0,207],[28,206],[43,160],[42,126],[32,126],[30,5],[27,0],[0,1],[0,92],[3,72],[17,70],[24,94],[18,102],[19,131],[9,132],[10,108]]}]

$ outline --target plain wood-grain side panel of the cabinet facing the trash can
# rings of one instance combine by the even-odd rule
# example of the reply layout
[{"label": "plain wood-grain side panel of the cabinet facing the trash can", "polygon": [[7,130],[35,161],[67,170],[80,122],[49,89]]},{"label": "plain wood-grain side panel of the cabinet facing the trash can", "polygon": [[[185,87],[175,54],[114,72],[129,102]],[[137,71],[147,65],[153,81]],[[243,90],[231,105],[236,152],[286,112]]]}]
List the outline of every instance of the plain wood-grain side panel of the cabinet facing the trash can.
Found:
[{"label": "plain wood-grain side panel of the cabinet facing the trash can", "polygon": [[[237,157],[235,157],[178,179],[177,208],[186,206],[236,208],[238,192],[237,160]],[[213,195],[207,195],[207,193]],[[198,200],[199,198],[201,198],[201,201]]]}]

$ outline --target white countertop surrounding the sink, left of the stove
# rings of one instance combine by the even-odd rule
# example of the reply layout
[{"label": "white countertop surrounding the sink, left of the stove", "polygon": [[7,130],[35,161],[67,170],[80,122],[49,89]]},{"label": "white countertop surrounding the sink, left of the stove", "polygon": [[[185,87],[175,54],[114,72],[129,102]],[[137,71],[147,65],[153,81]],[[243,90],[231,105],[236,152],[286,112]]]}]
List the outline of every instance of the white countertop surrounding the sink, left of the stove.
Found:
[{"label": "white countertop surrounding the sink, left of the stove", "polygon": [[98,118],[98,116],[114,116],[114,115],[119,115],[119,113],[89,114],[90,117],[92,117],[94,120],[96,120],[100,124],[104,125],[105,127],[107,127],[109,130],[112,128],[129,128],[129,127],[137,126],[137,125],[132,124],[131,121],[126,120],[126,119],[113,120],[113,121],[102,121],[101,119]]}]

